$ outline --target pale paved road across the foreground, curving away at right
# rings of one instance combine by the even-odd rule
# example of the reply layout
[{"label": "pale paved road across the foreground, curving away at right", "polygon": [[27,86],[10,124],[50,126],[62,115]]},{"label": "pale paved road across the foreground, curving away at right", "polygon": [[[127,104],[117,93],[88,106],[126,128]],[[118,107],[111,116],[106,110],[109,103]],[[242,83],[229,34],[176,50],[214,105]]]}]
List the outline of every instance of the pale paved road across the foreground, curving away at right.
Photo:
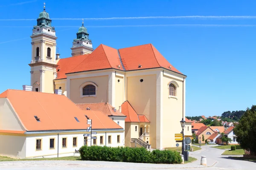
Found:
[{"label": "pale paved road across the foreground, curving away at right", "polygon": [[[137,164],[105,161],[3,161],[0,170],[255,170],[256,163],[227,159],[224,150],[203,146],[190,152],[198,161],[189,164]],[[201,156],[207,156],[207,167],[200,165]],[[210,167],[209,167],[210,166]]]}]

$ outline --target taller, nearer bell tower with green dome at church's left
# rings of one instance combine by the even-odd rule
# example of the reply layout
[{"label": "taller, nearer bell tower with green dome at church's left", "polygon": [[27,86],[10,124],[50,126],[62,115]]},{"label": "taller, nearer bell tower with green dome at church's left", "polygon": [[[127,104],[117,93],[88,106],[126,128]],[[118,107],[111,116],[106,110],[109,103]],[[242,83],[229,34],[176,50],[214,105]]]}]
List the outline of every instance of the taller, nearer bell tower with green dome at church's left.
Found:
[{"label": "taller, nearer bell tower with green dome at church's left", "polygon": [[32,91],[54,93],[53,79],[56,78],[56,35],[49,14],[39,14],[37,25],[32,30],[31,86]]}]

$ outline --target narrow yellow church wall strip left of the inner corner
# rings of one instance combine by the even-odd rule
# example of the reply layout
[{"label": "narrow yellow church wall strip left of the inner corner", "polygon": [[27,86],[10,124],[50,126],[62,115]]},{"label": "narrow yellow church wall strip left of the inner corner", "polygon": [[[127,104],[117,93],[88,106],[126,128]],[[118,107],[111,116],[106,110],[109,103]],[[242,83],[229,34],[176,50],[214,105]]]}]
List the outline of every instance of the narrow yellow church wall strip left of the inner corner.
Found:
[{"label": "narrow yellow church wall strip left of the inner corner", "polygon": [[[119,80],[119,82],[118,82]],[[119,106],[122,105],[122,103],[124,102],[123,100],[123,96],[124,96],[124,79],[123,77],[120,76],[116,76],[116,109],[119,109]]]}]

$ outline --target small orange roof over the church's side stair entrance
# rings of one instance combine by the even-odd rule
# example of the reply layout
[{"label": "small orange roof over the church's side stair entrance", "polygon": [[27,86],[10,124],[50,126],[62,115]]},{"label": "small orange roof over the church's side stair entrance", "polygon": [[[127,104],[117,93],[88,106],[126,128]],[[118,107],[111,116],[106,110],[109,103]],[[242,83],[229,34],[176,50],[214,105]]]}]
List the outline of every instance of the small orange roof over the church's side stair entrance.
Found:
[{"label": "small orange roof over the church's side stair entrance", "polygon": [[121,108],[122,113],[126,116],[125,122],[149,122],[145,115],[138,115],[128,101],[125,101]]}]

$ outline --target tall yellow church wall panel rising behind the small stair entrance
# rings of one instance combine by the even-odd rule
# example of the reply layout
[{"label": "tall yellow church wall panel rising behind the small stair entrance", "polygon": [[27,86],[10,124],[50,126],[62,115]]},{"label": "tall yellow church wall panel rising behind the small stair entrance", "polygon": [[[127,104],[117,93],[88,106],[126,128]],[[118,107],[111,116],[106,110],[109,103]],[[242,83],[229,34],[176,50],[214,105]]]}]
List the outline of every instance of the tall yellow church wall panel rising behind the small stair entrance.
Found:
[{"label": "tall yellow church wall panel rising behind the small stair entrance", "polygon": [[[127,77],[126,84],[127,100],[138,114],[144,114],[150,120],[149,143],[156,148],[156,74]],[[137,135],[133,136],[139,137],[139,127]]]}]

